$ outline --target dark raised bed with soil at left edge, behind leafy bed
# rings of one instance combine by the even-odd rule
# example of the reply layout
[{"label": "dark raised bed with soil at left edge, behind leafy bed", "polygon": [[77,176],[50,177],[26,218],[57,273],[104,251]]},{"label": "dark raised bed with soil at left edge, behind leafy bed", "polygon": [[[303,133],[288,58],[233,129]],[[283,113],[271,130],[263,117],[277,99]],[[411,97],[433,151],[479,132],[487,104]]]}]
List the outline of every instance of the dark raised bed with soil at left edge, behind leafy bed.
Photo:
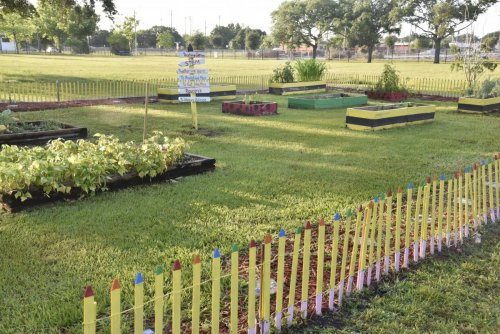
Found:
[{"label": "dark raised bed with soil at left edge, behind leafy bed", "polygon": [[0,133],[0,145],[43,145],[57,138],[66,140],[87,138],[87,128],[55,121],[15,122],[10,124],[9,128],[15,128],[15,131]]}]

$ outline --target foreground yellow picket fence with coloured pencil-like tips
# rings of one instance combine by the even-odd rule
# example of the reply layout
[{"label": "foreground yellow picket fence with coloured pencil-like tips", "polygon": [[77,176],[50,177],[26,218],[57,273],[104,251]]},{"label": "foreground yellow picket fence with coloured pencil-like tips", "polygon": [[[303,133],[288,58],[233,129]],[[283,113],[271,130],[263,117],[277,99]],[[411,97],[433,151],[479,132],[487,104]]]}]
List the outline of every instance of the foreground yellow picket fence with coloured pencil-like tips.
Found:
[{"label": "foreground yellow picket fence with coloured pencil-like tips", "polygon": [[[130,283],[115,278],[110,299],[99,296],[109,303],[109,314],[97,314],[97,296],[87,286],[83,331],[280,332],[294,319],[335,310],[344,295],[379,281],[391,269],[408,268],[471,235],[478,238],[481,224],[500,221],[499,175],[500,154],[448,178],[429,177],[416,191],[411,183],[395,194],[389,190],[354,213],[337,213],[332,221],[307,222],[289,235],[284,230],[274,238],[267,234],[261,244],[251,240],[241,251],[233,245],[227,256],[215,249],[210,263],[200,255],[190,265],[177,260],[167,290],[159,266],[148,301],[141,273]],[[210,267],[208,277],[202,277],[204,265]],[[183,279],[187,276],[190,280]],[[134,304],[124,305],[121,285],[132,282]]]}]

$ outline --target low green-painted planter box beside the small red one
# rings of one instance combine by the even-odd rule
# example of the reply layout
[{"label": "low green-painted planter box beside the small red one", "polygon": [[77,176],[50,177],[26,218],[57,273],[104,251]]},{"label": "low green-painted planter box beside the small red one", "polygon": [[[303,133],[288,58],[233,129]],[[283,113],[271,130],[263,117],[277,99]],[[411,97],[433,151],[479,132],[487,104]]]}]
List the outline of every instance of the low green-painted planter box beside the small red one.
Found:
[{"label": "low green-painted planter box beside the small red one", "polygon": [[368,104],[368,96],[344,93],[288,98],[288,108],[291,109],[336,109],[366,104]]}]

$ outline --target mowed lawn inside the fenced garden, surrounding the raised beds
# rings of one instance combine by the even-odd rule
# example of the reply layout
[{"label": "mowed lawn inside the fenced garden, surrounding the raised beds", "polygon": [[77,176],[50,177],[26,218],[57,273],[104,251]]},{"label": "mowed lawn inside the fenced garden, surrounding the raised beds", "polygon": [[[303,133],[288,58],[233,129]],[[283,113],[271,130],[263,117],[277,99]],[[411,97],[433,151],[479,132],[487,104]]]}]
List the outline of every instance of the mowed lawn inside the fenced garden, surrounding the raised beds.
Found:
[{"label": "mowed lawn inside the fenced garden, surrounding the raised beds", "polygon": [[[189,105],[150,105],[150,131],[182,136],[190,152],[216,158],[212,173],[2,214],[0,332],[79,332],[86,284],[96,292],[99,317],[109,314],[114,277],[123,285],[123,308],[130,308],[137,271],[151,298],[158,264],[168,286],[175,259],[189,276],[193,254],[201,254],[208,271],[215,247],[228,254],[233,243],[246,247],[267,231],[290,232],[389,187],[449,174],[499,151],[499,115],[458,114],[454,103],[438,103],[432,124],[355,132],[344,127],[345,110],[292,110],[284,97],[261,98],[277,101],[280,115],[226,115],[220,103],[200,104],[200,132],[219,134],[212,137],[190,129]],[[142,138],[141,105],[16,116]]]}]

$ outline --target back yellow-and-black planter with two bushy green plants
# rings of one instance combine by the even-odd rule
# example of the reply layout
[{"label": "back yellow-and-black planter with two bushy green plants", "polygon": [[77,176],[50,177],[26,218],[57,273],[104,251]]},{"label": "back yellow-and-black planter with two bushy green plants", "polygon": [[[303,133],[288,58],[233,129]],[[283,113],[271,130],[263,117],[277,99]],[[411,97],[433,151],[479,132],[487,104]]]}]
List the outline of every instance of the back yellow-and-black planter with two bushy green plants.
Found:
[{"label": "back yellow-and-black planter with two bushy green plants", "polygon": [[326,64],[316,59],[297,60],[294,66],[286,62],[283,67],[274,69],[269,93],[292,95],[325,92],[325,75]]}]

